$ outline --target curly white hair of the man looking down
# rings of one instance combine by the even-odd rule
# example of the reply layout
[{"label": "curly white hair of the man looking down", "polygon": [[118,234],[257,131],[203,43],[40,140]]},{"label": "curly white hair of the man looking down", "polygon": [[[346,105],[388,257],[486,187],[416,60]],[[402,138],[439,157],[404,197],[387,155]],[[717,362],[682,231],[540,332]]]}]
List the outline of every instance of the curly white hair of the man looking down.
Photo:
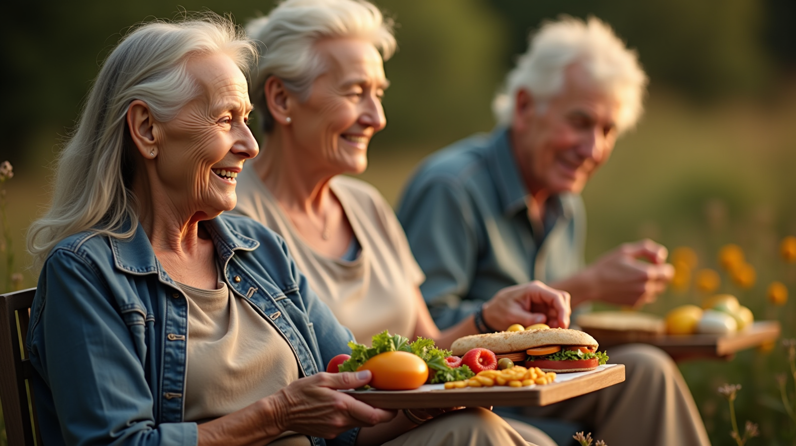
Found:
[{"label": "curly white hair of the man looking down", "polygon": [[497,123],[509,126],[517,92],[526,89],[544,111],[547,100],[564,87],[565,70],[579,65],[599,88],[619,101],[617,129],[621,133],[642,115],[647,76],[638,54],[627,49],[611,26],[599,20],[564,17],[544,23],[531,35],[529,49],[505,80],[505,92],[493,101]]}]

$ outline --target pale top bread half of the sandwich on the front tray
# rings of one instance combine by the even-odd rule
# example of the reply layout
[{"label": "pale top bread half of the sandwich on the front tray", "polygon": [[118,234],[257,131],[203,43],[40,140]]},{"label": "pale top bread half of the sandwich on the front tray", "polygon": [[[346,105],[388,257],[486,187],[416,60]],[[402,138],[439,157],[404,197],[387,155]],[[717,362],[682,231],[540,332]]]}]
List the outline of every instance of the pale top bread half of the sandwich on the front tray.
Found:
[{"label": "pale top bread half of the sandwich on the front tray", "polygon": [[501,331],[499,333],[472,334],[458,338],[451,350],[461,356],[474,348],[486,348],[494,354],[525,351],[540,346],[587,346],[595,349],[599,344],[590,334],[566,328],[550,328],[529,331]]}]

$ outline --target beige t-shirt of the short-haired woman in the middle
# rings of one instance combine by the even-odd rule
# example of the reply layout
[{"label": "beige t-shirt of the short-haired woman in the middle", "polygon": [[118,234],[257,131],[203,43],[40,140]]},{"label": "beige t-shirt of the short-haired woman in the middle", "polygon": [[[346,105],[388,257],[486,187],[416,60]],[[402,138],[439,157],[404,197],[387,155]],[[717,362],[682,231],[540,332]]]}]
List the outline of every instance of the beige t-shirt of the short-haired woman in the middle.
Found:
[{"label": "beige t-shirt of the short-haired woman in the middle", "polygon": [[332,178],[330,188],[361,246],[356,260],[330,258],[303,241],[290,218],[252,169],[238,174],[236,213],[279,233],[310,288],[359,342],[388,330],[411,337],[417,319],[416,289],[425,280],[404,229],[378,191],[355,178]]}]

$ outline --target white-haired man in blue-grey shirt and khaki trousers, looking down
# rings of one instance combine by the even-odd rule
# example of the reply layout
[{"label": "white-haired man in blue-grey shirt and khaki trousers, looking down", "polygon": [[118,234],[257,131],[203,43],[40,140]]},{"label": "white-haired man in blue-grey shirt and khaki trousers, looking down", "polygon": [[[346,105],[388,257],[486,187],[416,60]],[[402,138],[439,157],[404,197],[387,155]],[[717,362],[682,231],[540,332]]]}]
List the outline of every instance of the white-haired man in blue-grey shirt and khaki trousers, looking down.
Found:
[{"label": "white-haired man in blue-grey shirt and khaki trousers, looking down", "polygon": [[[486,311],[498,304],[490,298],[531,280],[568,291],[573,307],[655,299],[673,270],[653,241],[583,266],[579,194],[642,113],[646,75],[636,54],[599,19],[564,18],[542,25],[506,84],[494,101],[497,129],[431,155],[401,200],[398,217],[427,277],[420,289],[435,322],[445,328],[472,315],[479,331],[505,330]],[[646,345],[609,353],[626,365],[624,383],[509,417],[587,424],[611,446],[709,444],[671,358]]]}]

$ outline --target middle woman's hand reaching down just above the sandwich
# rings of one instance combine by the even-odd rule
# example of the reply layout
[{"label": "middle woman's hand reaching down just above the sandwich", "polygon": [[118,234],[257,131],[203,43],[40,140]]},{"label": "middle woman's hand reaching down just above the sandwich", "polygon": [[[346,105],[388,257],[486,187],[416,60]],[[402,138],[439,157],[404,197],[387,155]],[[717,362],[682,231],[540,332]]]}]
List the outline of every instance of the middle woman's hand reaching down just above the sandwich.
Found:
[{"label": "middle woman's hand reaching down just above the sandwich", "polygon": [[539,280],[503,288],[484,304],[484,322],[496,330],[505,330],[514,323],[523,327],[546,323],[552,328],[567,328],[571,313],[569,293]]}]

